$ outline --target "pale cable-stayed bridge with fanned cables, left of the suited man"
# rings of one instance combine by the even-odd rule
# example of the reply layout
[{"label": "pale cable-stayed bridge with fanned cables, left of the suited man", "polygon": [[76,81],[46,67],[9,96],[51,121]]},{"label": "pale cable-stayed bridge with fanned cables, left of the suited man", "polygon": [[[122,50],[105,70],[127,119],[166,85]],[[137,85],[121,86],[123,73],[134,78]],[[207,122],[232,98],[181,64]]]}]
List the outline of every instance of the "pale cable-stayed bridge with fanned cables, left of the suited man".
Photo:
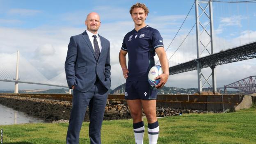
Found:
[{"label": "pale cable-stayed bridge with fanned cables, left of the suited man", "polygon": [[0,81],[15,82],[15,93],[18,93],[18,83],[69,88],[65,72],[48,80],[19,52],[0,58]]}]

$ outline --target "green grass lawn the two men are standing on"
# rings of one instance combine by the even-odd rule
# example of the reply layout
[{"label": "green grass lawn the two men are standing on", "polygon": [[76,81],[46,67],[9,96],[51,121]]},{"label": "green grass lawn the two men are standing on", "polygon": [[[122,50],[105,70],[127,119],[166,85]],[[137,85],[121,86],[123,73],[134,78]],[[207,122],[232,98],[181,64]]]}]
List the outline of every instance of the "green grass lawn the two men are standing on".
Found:
[{"label": "green grass lawn the two men are standing on", "polygon": [[[222,114],[183,114],[158,119],[158,144],[255,144],[256,107]],[[147,122],[144,144],[148,144]],[[82,125],[80,144],[89,144],[89,123]],[[65,144],[68,123],[2,125],[4,144]],[[103,121],[103,144],[134,144],[132,120]]]}]

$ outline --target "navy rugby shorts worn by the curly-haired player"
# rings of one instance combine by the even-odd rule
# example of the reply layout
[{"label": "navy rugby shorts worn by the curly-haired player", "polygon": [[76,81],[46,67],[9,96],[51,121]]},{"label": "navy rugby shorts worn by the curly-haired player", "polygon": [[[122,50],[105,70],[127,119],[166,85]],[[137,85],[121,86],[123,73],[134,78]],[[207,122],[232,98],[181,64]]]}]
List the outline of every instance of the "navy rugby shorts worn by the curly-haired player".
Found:
[{"label": "navy rugby shorts worn by the curly-haired player", "polygon": [[124,98],[126,100],[155,100],[157,89],[151,87],[147,81],[126,81]]}]

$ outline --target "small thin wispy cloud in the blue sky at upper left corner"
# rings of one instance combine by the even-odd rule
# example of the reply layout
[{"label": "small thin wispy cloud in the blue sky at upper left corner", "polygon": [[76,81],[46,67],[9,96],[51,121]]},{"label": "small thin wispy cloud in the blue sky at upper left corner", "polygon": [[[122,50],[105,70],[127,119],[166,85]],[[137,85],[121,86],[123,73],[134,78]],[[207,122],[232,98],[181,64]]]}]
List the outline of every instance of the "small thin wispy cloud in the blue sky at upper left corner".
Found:
[{"label": "small thin wispy cloud in the blue sky at upper left corner", "polygon": [[41,11],[39,10],[33,10],[33,9],[9,9],[9,11],[7,11],[7,14],[10,15],[20,15],[20,16],[34,16],[38,13],[40,13]]}]

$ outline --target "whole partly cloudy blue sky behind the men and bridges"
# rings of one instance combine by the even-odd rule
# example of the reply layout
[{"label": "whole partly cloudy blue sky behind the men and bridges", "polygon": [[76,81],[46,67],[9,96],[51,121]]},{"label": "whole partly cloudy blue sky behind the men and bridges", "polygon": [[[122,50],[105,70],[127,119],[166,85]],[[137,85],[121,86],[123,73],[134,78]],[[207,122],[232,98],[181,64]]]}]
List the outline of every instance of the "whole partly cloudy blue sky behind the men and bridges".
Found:
[{"label": "whole partly cloudy blue sky behind the men and bridges", "polygon": [[[118,53],[125,34],[134,29],[129,10],[136,2],[145,3],[149,8],[146,24],[159,30],[162,35],[169,66],[197,57],[195,27],[181,45],[195,23],[194,0],[0,0],[0,68],[14,73],[14,53],[19,50],[21,79],[34,82],[57,79],[65,83],[64,62],[69,39],[86,30],[86,16],[94,11],[101,16],[98,33],[110,41],[111,88],[114,89],[122,81],[125,82],[122,80]],[[213,2],[214,53],[256,41],[255,8],[256,4]],[[186,16],[187,20],[174,39]],[[201,20],[202,25],[208,24],[205,16]],[[201,37],[207,44],[205,32]],[[206,50],[201,56],[204,55],[208,55]],[[158,57],[155,56],[155,59],[157,62]],[[256,75],[255,69],[255,59],[217,66],[217,87]],[[202,71],[206,77],[210,75],[210,69]],[[0,89],[14,88],[11,82],[0,82],[0,85]],[[197,71],[170,75],[166,86],[197,88]],[[19,84],[19,89],[39,88],[46,86]]]}]

